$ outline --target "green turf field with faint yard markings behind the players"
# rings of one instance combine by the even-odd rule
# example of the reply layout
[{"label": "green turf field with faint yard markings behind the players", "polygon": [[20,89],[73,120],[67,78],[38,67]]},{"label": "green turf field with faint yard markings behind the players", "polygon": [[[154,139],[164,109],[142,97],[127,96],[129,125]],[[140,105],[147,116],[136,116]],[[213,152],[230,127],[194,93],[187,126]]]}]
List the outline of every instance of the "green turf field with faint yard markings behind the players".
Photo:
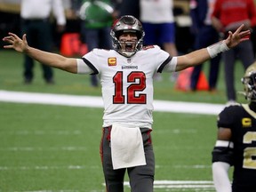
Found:
[{"label": "green turf field with faint yard markings behind the players", "polygon": [[[100,95],[100,88],[90,87],[88,76],[57,69],[56,84],[46,85],[39,65],[35,82],[24,85],[21,62],[19,53],[0,50],[0,90]],[[236,66],[236,88],[241,91],[243,68]],[[222,67],[217,93],[177,92],[164,75],[164,81],[155,83],[155,99],[224,104]],[[0,192],[104,191],[101,116],[101,108],[0,102]],[[154,120],[155,191],[214,191],[211,152],[216,116],[155,112]]]}]

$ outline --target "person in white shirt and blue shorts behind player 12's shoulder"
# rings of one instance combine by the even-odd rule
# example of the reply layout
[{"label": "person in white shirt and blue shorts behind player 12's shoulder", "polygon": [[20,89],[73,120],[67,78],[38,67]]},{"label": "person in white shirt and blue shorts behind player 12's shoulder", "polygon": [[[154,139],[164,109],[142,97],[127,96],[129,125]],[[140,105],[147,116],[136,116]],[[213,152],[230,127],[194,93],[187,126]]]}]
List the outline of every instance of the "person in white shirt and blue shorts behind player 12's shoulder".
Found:
[{"label": "person in white shirt and blue shorts behind player 12's shoulder", "polygon": [[[144,44],[157,44],[173,57],[178,55],[178,51],[172,9],[172,0],[140,0],[140,21],[146,34]],[[172,73],[170,79],[175,80],[176,77],[177,74]],[[162,79],[159,74],[155,78]]]}]

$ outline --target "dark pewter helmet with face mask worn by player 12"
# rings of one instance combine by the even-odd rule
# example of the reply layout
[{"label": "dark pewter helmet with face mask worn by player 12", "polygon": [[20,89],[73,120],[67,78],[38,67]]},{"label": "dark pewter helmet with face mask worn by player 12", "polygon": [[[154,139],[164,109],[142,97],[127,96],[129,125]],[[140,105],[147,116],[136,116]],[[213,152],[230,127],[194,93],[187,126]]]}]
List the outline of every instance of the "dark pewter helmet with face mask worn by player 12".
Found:
[{"label": "dark pewter helmet with face mask worn by player 12", "polygon": [[[121,42],[119,41],[119,36],[124,33],[135,33],[137,36],[137,41],[131,42]],[[143,38],[145,36],[144,29],[140,23],[140,20],[137,20],[132,15],[124,15],[119,20],[113,24],[110,31],[110,36],[112,37],[112,44],[114,50],[124,55],[124,57],[132,57],[136,52],[140,51],[143,46]],[[123,44],[123,48],[122,48]],[[125,48],[124,48],[125,47]],[[134,47],[131,49],[131,47]]]}]

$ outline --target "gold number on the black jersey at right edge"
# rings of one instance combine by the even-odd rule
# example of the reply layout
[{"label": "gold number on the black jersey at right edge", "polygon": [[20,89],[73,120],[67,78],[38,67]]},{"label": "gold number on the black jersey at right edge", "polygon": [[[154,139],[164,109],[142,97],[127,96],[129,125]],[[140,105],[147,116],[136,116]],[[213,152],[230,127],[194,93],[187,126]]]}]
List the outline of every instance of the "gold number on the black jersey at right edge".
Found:
[{"label": "gold number on the black jersey at right edge", "polygon": [[[244,134],[244,143],[250,144],[256,141],[256,132],[246,132]],[[244,148],[244,168],[256,169],[256,148]]]}]

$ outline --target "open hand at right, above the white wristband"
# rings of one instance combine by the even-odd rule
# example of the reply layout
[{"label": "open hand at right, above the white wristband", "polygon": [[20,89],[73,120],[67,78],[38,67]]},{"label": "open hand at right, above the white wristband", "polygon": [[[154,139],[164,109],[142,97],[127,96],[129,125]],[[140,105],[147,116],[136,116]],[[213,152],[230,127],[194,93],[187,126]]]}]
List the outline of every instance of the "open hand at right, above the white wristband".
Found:
[{"label": "open hand at right, above the white wristband", "polygon": [[228,31],[228,38],[225,39],[225,43],[227,44],[228,48],[235,47],[237,44],[249,40],[249,36],[251,34],[250,30],[243,30],[244,24],[242,24],[239,28],[236,29],[234,33]]}]

